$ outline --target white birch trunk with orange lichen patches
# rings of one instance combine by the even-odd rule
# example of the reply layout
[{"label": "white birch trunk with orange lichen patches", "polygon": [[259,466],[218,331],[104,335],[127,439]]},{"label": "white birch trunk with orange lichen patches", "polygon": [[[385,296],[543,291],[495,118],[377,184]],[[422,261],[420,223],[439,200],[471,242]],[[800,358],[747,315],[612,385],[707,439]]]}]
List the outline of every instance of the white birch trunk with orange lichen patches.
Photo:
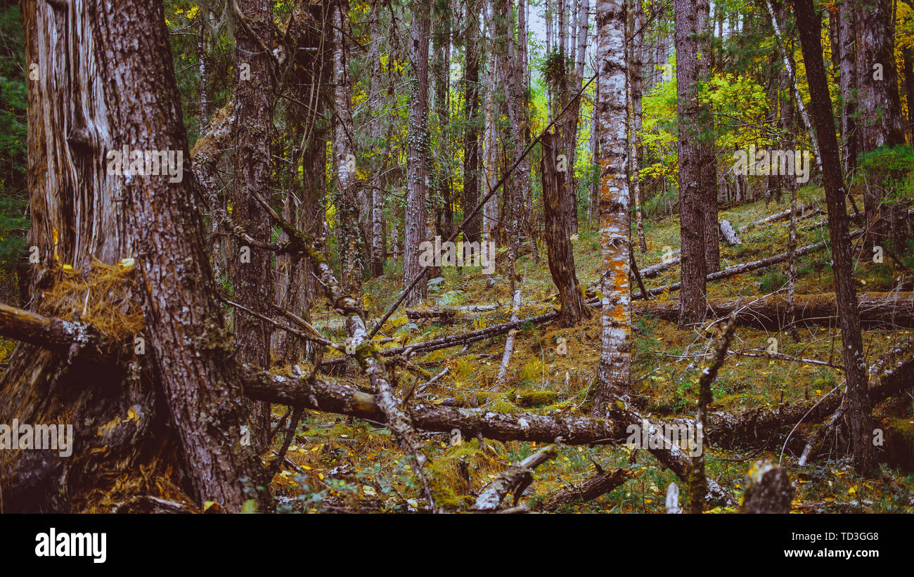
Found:
[{"label": "white birch trunk with orange lichen patches", "polygon": [[[598,389],[591,414],[607,417],[614,396],[629,392],[632,371],[632,299],[629,289],[629,190],[625,169],[625,2],[597,3],[597,66],[600,67],[600,238],[602,332]],[[544,186],[544,190],[545,190]],[[548,220],[548,218],[547,218]],[[550,255],[549,262],[552,262]]]}]

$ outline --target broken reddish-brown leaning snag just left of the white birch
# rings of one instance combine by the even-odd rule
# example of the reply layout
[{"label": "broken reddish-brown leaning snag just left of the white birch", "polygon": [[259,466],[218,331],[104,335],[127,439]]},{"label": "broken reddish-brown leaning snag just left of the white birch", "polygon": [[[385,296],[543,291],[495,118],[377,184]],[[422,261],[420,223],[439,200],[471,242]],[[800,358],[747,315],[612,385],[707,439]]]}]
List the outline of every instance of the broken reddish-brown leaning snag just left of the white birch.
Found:
[{"label": "broken reddish-brown leaning snag just left of the white birch", "polygon": [[[624,105],[623,105],[624,110]],[[623,118],[624,122],[624,118]],[[623,134],[624,137],[624,134]],[[546,211],[546,246],[549,258],[549,272],[558,289],[561,302],[561,325],[573,327],[581,319],[590,318],[590,311],[584,305],[578,276],[575,272],[574,252],[569,238],[568,205],[562,203],[563,175],[556,170],[559,139],[555,132],[547,132],[541,139],[543,158],[540,172],[543,175],[543,207]],[[624,152],[622,157],[624,158]],[[624,178],[624,167],[622,172]],[[626,204],[627,207],[627,204]],[[628,223],[626,214],[625,222]],[[627,237],[627,236],[626,236]],[[626,258],[625,264],[627,265]],[[628,282],[626,269],[625,281]],[[626,294],[628,294],[626,292]]]}]

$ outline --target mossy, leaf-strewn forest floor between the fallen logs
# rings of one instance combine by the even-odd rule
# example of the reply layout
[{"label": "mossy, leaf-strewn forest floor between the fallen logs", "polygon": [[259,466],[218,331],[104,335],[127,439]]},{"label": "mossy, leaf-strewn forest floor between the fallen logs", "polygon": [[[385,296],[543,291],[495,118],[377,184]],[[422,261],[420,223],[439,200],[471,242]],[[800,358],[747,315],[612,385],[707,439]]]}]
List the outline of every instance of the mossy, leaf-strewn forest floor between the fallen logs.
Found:
[{"label": "mossy, leaf-strewn forest floor between the fallen logs", "polygon": [[[798,201],[821,200],[821,189],[807,188]],[[859,199],[857,199],[859,205]],[[747,225],[766,215],[789,207],[786,203],[766,205],[758,202],[739,205],[720,214],[735,227]],[[827,228],[810,228],[824,220],[824,215],[798,222],[798,246],[827,239]],[[679,245],[679,229],[675,217],[647,222],[645,220],[647,252],[635,252],[641,268],[660,262],[664,253]],[[853,226],[852,226],[853,228]],[[728,247],[721,242],[721,268],[769,257],[786,249],[788,221],[749,228],[740,237],[741,246]],[[592,226],[582,225],[574,239],[576,266],[582,286],[593,287],[600,272],[599,233]],[[526,303],[520,318],[547,312],[558,307],[555,287],[543,258],[534,263],[529,252],[517,260],[522,277],[522,301]],[[910,251],[902,256],[908,268],[898,270],[886,259],[884,264],[858,258],[856,279],[859,290],[886,291],[897,287],[898,279],[907,281],[914,269]],[[496,269],[497,270],[497,269]],[[796,265],[797,294],[816,294],[834,290],[828,252],[821,251],[802,257]],[[786,264],[763,269],[734,278],[708,283],[708,297],[749,296],[782,289],[786,281]],[[669,268],[658,278],[645,279],[652,287],[678,280],[678,268]],[[427,341],[448,334],[480,329],[510,320],[511,296],[505,277],[497,277],[494,289],[485,288],[479,268],[443,268],[443,280],[430,288],[427,306],[452,307],[467,304],[500,303],[501,308],[485,311],[452,324],[414,322],[407,319],[403,309],[388,321],[382,334],[394,341],[394,347],[409,342]],[[902,278],[901,275],[907,275]],[[366,283],[367,316],[377,318],[393,302],[400,289],[399,267]],[[637,289],[635,289],[637,290]],[[910,290],[910,289],[907,289]],[[670,298],[661,295],[660,299]],[[675,298],[675,293],[673,295]],[[578,327],[563,329],[551,325],[527,325],[516,335],[514,357],[508,379],[497,392],[490,389],[495,382],[505,336],[476,342],[466,348],[453,347],[417,355],[413,362],[428,375],[401,374],[401,387],[413,382],[424,383],[444,368],[449,372],[438,383],[426,389],[426,402],[480,406],[497,412],[533,411],[551,414],[588,414],[590,387],[595,379],[600,359],[600,316],[592,309],[590,320]],[[324,313],[313,320],[324,326],[328,336],[345,338],[342,330],[332,330],[321,323]],[[867,362],[877,359],[887,347],[904,338],[907,330],[866,330],[864,346]],[[640,398],[647,413],[663,420],[671,416],[694,417],[696,382],[702,359],[711,343],[711,335],[698,330],[678,330],[664,320],[637,318],[634,321],[632,346],[632,395]],[[788,334],[739,327],[732,350],[764,351],[769,339],[775,337],[779,351],[794,357],[841,362],[840,334],[828,328],[803,328],[801,340],[794,342]],[[567,354],[557,352],[560,338],[566,340]],[[698,356],[695,356],[698,355]],[[307,370],[307,369],[305,369]],[[358,383],[360,377],[347,377],[347,383]],[[713,411],[739,412],[746,408],[770,407],[793,400],[815,399],[833,390],[842,382],[841,372],[824,366],[796,361],[771,360],[730,356],[713,385]],[[402,389],[401,389],[402,390]],[[914,449],[914,403],[905,400],[890,409],[879,407],[877,420],[891,426],[900,434],[894,439],[907,441],[909,458]],[[284,413],[276,407],[275,418]],[[808,432],[802,427],[794,433],[792,443],[782,453],[783,438],[772,438],[760,447],[745,452],[720,450],[706,446],[707,471],[736,497],[741,498],[744,477],[749,465],[759,458],[781,460],[796,488],[794,510],[914,512],[914,475],[898,468],[883,467],[881,477],[860,478],[843,456],[846,438],[842,437],[824,450],[805,467],[797,467],[797,451],[802,450],[802,438]],[[277,435],[277,447],[282,435]],[[425,434],[430,456],[431,485],[439,506],[445,509],[469,509],[475,495],[495,475],[511,463],[537,450],[536,443],[485,441],[463,439],[452,446],[447,434]],[[841,456],[836,455],[835,443]],[[799,445],[799,447],[797,447]],[[541,446],[540,446],[541,447]],[[369,425],[334,414],[308,412],[299,426],[288,453],[296,467],[288,465],[273,484],[282,507],[289,510],[318,511],[407,511],[423,510],[424,501],[417,500],[420,491],[409,472],[404,456],[387,429]],[[536,509],[537,503],[569,483],[577,483],[594,473],[594,463],[609,469],[624,467],[632,478],[621,487],[590,502],[559,509],[559,512],[663,512],[664,495],[670,482],[681,489],[684,484],[664,469],[646,451],[627,446],[559,446],[558,457],[537,467],[534,482],[521,503]],[[910,468],[910,467],[908,467]],[[685,496],[685,490],[682,494]],[[806,507],[804,507],[806,505]],[[731,511],[717,508],[712,512]]]}]

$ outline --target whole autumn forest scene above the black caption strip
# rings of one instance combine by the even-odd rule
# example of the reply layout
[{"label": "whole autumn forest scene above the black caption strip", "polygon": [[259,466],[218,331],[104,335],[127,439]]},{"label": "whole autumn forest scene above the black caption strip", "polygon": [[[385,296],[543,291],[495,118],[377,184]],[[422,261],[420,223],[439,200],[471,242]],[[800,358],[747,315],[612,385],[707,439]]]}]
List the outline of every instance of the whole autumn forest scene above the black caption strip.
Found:
[{"label": "whole autumn forest scene above the black caption strip", "polygon": [[909,0],[0,40],[0,510],[914,510]]}]

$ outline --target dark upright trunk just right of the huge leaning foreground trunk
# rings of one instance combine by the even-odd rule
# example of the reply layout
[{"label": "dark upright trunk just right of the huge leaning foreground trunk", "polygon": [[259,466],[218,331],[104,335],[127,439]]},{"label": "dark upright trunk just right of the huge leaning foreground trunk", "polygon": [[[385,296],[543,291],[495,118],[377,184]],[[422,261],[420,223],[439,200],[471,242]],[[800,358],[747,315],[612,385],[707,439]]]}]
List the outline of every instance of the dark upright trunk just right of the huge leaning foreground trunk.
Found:
[{"label": "dark upright trunk just right of the huge leaning foreground trunk", "polygon": [[[239,26],[235,73],[237,88],[235,136],[235,191],[232,215],[238,226],[256,241],[269,243],[270,215],[255,196],[269,202],[272,193],[270,144],[273,126],[271,54],[260,46],[272,45],[273,11],[269,0],[241,0],[241,14],[247,26]],[[270,314],[271,257],[256,247],[239,246],[231,261],[235,264],[235,299],[244,307]],[[240,362],[270,366],[271,327],[245,312],[235,312],[235,341]],[[260,448],[270,442],[270,405],[253,407]]]}]

